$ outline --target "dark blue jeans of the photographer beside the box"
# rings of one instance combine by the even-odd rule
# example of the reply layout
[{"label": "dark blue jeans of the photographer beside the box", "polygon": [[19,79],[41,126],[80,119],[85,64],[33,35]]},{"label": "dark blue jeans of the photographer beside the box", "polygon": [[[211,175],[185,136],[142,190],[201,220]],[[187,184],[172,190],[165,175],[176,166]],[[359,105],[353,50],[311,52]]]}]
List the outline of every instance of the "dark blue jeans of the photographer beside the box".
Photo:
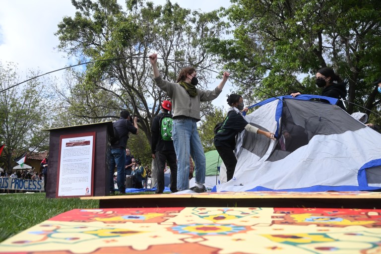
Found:
[{"label": "dark blue jeans of the photographer beside the box", "polygon": [[126,166],[126,149],[116,148],[110,149],[110,163],[109,163],[109,171],[110,171],[110,191],[114,191],[114,168],[117,166],[117,184],[118,190],[126,192],[125,188],[125,166]]}]

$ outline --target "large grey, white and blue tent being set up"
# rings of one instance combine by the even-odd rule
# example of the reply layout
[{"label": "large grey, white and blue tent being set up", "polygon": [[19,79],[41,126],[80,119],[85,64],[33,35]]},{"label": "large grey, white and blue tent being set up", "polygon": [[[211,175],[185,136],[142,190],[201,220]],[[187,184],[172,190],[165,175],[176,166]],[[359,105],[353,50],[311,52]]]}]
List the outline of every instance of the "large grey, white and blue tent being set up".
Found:
[{"label": "large grey, white and blue tent being set up", "polygon": [[[270,98],[246,120],[277,140],[244,130],[234,177],[213,191],[381,189],[381,134],[336,106],[337,99]],[[322,103],[326,102],[326,103]]]}]

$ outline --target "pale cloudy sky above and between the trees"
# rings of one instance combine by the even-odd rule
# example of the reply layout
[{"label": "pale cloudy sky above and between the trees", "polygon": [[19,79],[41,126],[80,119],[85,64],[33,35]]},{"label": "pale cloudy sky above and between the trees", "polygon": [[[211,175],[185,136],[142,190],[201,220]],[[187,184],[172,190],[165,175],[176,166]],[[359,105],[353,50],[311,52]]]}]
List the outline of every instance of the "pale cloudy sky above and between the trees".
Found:
[{"label": "pale cloudy sky above and between the trees", "polygon": [[[154,5],[166,0],[151,0]],[[124,6],[124,0],[118,0]],[[229,7],[230,0],[172,0],[183,8],[211,11],[220,6]],[[18,64],[21,80],[26,79],[28,69],[46,73],[76,64],[59,52],[57,25],[64,16],[74,16],[75,8],[70,0],[0,0],[0,61]],[[63,71],[48,75],[60,78]],[[218,85],[216,80],[210,88]],[[214,85],[215,84],[215,85]],[[226,104],[226,94],[231,83],[228,81],[222,94],[213,101],[216,106]]]}]

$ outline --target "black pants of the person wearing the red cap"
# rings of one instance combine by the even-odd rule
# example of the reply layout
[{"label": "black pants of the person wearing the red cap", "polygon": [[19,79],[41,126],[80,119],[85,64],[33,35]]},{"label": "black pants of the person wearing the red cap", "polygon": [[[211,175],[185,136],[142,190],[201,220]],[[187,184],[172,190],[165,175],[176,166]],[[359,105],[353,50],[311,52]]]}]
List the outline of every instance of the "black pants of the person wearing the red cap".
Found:
[{"label": "black pants of the person wearing the red cap", "polygon": [[171,191],[177,191],[177,162],[175,150],[156,151],[156,179],[157,179],[157,193],[164,191],[164,168],[165,162],[171,169]]}]

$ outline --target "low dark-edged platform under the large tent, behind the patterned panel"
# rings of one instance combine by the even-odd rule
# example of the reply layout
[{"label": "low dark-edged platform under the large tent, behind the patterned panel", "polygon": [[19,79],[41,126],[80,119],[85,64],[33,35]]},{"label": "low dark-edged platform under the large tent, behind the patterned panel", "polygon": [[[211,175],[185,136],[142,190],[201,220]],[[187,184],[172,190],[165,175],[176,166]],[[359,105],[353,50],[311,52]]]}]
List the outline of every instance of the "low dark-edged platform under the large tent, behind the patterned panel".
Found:
[{"label": "low dark-edged platform under the large tent, behind the patterned panel", "polygon": [[81,197],[99,199],[99,208],[127,207],[321,207],[381,209],[381,192],[205,192]]}]

